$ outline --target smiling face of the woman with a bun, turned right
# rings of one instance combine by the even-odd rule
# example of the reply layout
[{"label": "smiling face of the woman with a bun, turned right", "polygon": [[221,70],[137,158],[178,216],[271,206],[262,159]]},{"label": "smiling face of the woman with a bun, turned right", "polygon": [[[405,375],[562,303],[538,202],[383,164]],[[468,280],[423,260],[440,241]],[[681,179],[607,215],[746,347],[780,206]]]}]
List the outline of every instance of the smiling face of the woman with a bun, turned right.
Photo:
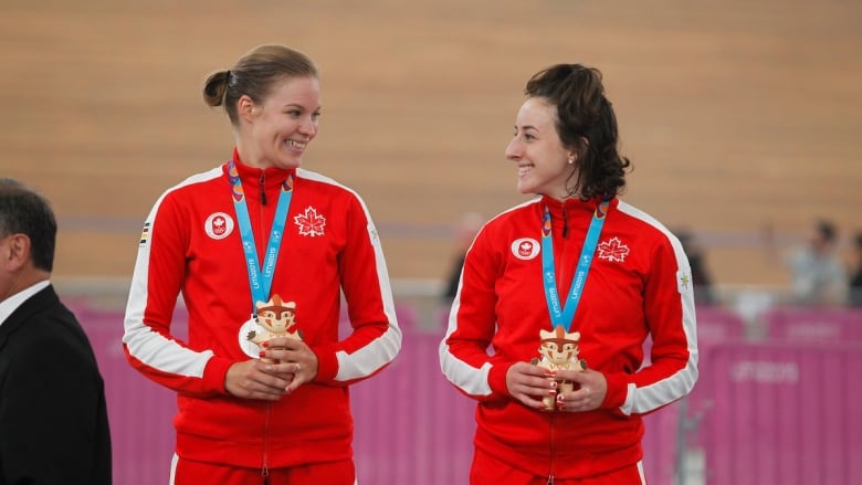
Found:
[{"label": "smiling face of the woman with a bun, turned right", "polygon": [[320,84],[316,77],[277,82],[262,104],[239,99],[241,124],[236,148],[242,160],[257,168],[295,168],[317,135]]}]

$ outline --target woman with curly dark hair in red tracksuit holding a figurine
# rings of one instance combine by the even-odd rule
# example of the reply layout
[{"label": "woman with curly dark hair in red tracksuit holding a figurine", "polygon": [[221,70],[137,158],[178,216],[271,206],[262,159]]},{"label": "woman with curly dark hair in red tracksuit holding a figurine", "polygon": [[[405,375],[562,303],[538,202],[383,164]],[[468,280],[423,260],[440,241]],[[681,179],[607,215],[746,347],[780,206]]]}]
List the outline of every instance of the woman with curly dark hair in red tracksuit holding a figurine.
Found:
[{"label": "woman with curly dark hair in red tracksuit holding a figurine", "polygon": [[688,261],[618,197],[630,162],[599,71],[555,65],[525,94],[506,158],[538,197],[480,231],[440,346],[479,402],[470,483],[644,484],[641,417],[697,379]]}]

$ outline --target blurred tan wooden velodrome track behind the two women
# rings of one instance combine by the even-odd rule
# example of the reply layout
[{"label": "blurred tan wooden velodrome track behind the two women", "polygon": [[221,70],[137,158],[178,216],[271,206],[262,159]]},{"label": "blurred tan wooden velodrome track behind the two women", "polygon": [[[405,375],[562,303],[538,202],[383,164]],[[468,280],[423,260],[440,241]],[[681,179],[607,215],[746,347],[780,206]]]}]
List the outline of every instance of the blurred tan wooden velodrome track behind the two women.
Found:
[{"label": "blurred tan wooden velodrome track behind the two women", "polygon": [[261,43],[323,72],[305,167],[365,198],[395,278],[440,278],[452,225],[524,200],[503,157],[535,71],[605,73],[624,199],[707,246],[719,284],[781,284],[765,224],[862,229],[862,3],[850,0],[2,0],[0,176],[45,193],[56,277],[128,277],[151,203],[229,156],[204,76]]}]

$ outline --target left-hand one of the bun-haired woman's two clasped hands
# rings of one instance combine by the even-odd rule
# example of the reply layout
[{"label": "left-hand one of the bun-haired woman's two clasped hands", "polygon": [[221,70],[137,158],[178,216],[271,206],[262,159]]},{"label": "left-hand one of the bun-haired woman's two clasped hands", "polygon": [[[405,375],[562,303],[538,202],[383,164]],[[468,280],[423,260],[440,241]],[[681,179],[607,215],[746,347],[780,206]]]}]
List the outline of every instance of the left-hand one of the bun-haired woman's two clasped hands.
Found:
[{"label": "left-hand one of the bun-haired woman's two clasped hands", "polygon": [[234,362],[224,376],[224,389],[238,398],[277,401],[287,394],[287,386],[294,377],[293,369],[293,363],[272,363],[257,359]]}]

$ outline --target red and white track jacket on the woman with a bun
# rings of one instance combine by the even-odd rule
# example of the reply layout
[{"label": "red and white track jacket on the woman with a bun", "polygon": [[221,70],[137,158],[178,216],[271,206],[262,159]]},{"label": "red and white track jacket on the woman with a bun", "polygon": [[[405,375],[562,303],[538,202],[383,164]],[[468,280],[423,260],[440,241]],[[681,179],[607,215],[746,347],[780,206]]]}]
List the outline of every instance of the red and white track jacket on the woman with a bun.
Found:
[{"label": "red and white track jacket on the woman with a bun", "polygon": [[[250,358],[240,347],[240,327],[253,308],[228,164],[169,189],[153,208],[123,348],[132,366],[178,392],[175,426],[183,458],[245,467],[348,458],[347,384],[380,371],[401,346],[377,231],[361,199],[332,179],[236,161],[259,261],[280,187],[288,172],[295,175],[271,295],[296,302],[296,327],[319,360],[316,380],[272,404],[224,390],[230,365]],[[351,328],[339,336],[341,291]],[[180,292],[188,341],[171,334]]]}]

